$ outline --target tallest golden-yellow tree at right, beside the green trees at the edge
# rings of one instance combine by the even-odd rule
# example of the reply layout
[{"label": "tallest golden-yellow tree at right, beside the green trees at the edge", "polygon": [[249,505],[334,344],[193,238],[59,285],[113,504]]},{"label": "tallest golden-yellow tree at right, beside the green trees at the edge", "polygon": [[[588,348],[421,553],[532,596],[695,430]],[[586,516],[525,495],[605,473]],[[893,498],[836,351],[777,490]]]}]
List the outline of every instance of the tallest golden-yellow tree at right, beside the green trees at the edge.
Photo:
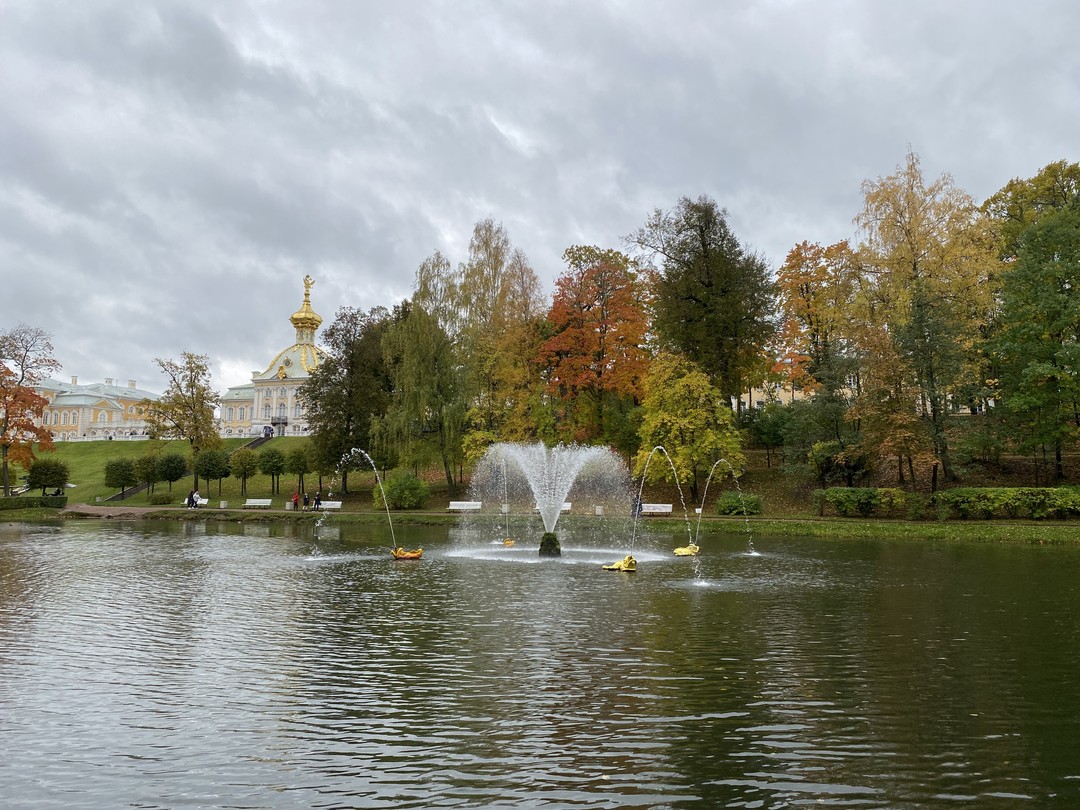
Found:
[{"label": "tallest golden-yellow tree at right, beside the green trees at the edge", "polygon": [[[905,405],[924,420],[946,481],[954,478],[947,421],[954,394],[980,372],[977,351],[994,306],[997,245],[987,218],[948,175],[927,185],[908,152],[895,174],[863,184],[855,221],[862,288],[858,320],[867,349],[883,346],[887,367],[899,363],[914,384]],[[875,362],[869,351],[864,362]],[[896,393],[902,393],[895,386]]]}]

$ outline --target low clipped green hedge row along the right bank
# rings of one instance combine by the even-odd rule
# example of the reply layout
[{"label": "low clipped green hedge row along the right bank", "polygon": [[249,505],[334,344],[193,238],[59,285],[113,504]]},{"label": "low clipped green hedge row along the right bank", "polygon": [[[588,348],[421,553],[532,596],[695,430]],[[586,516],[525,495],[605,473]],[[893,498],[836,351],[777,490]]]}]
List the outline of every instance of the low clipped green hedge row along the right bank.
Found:
[{"label": "low clipped green hedge row along the right bank", "polygon": [[813,494],[819,515],[906,517],[912,521],[1064,521],[1080,516],[1075,487],[957,487],[932,496],[879,487],[829,487]]}]

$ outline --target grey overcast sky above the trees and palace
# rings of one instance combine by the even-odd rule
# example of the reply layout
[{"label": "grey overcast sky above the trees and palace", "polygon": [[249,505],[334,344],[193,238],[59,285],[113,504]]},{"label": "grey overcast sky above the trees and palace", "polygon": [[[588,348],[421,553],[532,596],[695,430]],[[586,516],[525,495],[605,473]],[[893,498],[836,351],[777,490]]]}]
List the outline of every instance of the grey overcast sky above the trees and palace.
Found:
[{"label": "grey overcast sky above the trees and palace", "polygon": [[0,0],[0,329],[60,379],[222,391],[315,279],[392,307],[491,217],[549,294],[706,194],[779,267],[910,147],[977,202],[1080,160],[1075,0]]}]

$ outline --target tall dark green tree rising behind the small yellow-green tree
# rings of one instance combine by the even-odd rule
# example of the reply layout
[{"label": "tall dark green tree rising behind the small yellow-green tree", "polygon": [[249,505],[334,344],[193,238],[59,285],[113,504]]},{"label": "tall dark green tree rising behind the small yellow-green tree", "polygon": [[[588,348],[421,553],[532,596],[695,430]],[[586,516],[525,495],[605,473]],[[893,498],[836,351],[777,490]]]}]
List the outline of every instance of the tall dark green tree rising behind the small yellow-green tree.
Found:
[{"label": "tall dark green tree rising behind the small yellow-green tree", "polygon": [[746,377],[775,330],[773,285],[760,256],[732,233],[727,212],[707,197],[657,210],[627,241],[660,257],[654,326],[670,348],[710,374],[741,407]]}]

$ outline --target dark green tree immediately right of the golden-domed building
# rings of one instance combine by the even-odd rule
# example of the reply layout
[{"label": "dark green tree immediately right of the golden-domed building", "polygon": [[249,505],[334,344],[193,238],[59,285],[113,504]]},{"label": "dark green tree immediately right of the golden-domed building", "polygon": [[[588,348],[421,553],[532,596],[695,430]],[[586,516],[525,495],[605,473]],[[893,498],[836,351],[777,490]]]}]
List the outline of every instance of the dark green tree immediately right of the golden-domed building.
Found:
[{"label": "dark green tree immediately right of the golden-domed building", "polygon": [[372,424],[390,404],[382,352],[389,326],[390,313],[381,307],[367,313],[342,308],[323,333],[325,354],[300,392],[311,427],[312,461],[320,468],[337,469],[357,447],[378,455]]}]

